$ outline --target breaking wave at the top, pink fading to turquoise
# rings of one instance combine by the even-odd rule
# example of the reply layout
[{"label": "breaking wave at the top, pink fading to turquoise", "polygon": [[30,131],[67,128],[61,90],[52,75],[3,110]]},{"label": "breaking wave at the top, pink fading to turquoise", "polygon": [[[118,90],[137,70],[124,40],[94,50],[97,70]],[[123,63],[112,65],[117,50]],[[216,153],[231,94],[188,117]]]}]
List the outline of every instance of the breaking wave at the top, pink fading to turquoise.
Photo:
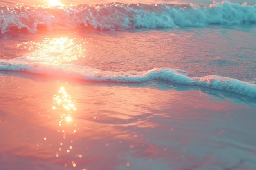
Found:
[{"label": "breaking wave at the top, pink fading to turquoise", "polygon": [[175,4],[101,4],[64,7],[0,7],[0,30],[9,31],[92,28],[130,30],[139,28],[201,27],[210,24],[255,24],[256,5],[228,1],[209,6]]}]

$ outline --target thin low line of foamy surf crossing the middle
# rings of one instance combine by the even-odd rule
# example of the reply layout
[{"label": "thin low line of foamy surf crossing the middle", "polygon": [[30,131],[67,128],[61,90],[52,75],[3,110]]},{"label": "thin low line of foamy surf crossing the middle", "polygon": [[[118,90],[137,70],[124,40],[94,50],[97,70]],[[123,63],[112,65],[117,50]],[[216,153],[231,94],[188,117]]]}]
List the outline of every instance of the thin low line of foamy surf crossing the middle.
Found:
[{"label": "thin low line of foamy surf crossing the middle", "polygon": [[175,84],[201,86],[256,97],[256,84],[217,75],[191,78],[171,68],[154,68],[142,72],[113,72],[72,64],[35,62],[20,57],[11,60],[0,60],[0,70],[23,71],[98,82],[145,82],[164,80]]}]

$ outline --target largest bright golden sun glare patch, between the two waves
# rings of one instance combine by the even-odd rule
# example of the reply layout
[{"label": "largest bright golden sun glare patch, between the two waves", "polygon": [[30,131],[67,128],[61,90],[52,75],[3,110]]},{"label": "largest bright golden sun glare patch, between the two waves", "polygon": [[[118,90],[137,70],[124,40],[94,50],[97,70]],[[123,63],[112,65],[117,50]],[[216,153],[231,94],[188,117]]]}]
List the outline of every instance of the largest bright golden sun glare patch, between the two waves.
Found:
[{"label": "largest bright golden sun glare patch, between the two waves", "polygon": [[23,42],[17,46],[31,50],[27,59],[52,64],[67,63],[85,57],[85,40],[82,38],[44,38],[43,42]]}]

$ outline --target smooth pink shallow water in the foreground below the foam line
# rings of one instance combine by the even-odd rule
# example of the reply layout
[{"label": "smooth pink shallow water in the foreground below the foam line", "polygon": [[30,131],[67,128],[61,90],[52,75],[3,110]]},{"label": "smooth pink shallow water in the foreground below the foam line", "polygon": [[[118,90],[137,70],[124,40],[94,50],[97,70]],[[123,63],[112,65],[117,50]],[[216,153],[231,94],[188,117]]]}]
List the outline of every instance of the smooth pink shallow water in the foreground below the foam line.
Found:
[{"label": "smooth pink shallow water in the foreground below the foam line", "polygon": [[[1,76],[2,169],[255,167],[255,99],[166,82],[29,76]],[[72,113],[61,106],[65,94]]]}]

